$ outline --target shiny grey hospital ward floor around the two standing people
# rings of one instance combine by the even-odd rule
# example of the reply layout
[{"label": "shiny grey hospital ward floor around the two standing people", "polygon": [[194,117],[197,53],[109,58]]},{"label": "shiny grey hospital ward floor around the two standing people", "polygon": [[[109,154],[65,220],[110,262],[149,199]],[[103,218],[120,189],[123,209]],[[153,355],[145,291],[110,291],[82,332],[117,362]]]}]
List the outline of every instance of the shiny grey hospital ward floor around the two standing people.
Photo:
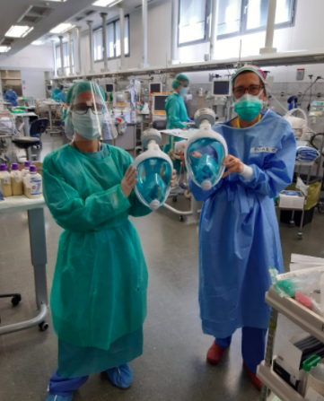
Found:
[{"label": "shiny grey hospital ward floor around the two standing people", "polygon": [[[60,138],[44,140],[43,152],[60,145]],[[180,199],[177,208],[189,208]],[[61,229],[45,209],[48,248],[48,293],[57,257]],[[213,342],[201,331],[197,301],[197,224],[180,222],[175,214],[161,210],[131,219],[142,241],[149,270],[148,315],[144,323],[144,353],[131,362],[134,383],[127,390],[114,388],[104,374],[93,375],[74,401],[258,401],[258,391],[242,370],[241,331],[233,336],[223,363],[212,367],[206,352]],[[317,211],[304,228],[280,225],[285,267],[290,255],[324,257],[324,214]],[[27,214],[0,216],[0,293],[21,292],[21,304],[0,300],[2,325],[35,315],[33,271]],[[31,328],[0,337],[0,400],[45,401],[48,379],[57,369],[57,337],[51,325],[45,333]],[[299,334],[284,317],[279,318],[276,346]]]}]

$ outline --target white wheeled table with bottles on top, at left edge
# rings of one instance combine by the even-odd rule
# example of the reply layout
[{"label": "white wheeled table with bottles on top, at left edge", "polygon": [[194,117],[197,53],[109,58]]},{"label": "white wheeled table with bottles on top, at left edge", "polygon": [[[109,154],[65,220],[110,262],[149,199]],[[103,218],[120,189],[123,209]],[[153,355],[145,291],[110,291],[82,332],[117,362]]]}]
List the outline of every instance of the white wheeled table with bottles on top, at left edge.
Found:
[{"label": "white wheeled table with bottles on top, at left edge", "polygon": [[[10,196],[0,202],[0,214],[17,212],[28,213],[28,225],[31,239],[31,263],[34,268],[36,304],[39,314],[35,318],[13,325],[0,326],[0,336],[39,326],[41,331],[48,329],[45,318],[48,314],[48,287],[46,277],[46,236],[44,222],[45,200],[29,199],[26,196]],[[8,288],[10,292],[10,289]]]}]

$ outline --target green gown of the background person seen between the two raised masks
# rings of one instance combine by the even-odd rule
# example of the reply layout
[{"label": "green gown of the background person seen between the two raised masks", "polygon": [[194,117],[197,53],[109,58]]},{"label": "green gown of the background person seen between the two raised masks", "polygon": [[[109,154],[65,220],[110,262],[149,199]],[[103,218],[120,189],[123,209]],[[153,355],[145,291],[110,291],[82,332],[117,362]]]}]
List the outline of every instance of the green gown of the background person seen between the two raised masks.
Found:
[{"label": "green gown of the background person seen between the two raised masks", "polygon": [[[188,114],[185,102],[182,97],[174,92],[172,93],[166,103],[165,103],[165,112],[168,120],[167,129],[174,128],[186,128],[186,126],[182,123],[186,123],[188,121]],[[173,137],[174,142],[181,141],[181,138]],[[163,152],[168,153],[171,151],[171,136],[169,136],[169,144],[166,144],[163,147]],[[177,174],[180,173],[180,161],[173,161],[173,167],[177,170]]]}]

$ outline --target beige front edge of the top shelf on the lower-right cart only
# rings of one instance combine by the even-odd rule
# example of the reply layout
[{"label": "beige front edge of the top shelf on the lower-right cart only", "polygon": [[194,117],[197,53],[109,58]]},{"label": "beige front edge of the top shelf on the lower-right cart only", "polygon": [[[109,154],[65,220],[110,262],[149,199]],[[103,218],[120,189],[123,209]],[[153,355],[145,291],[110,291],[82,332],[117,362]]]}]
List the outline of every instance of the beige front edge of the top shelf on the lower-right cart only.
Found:
[{"label": "beige front edge of the top shelf on the lower-right cart only", "polygon": [[293,298],[281,297],[273,286],[266,294],[266,302],[294,324],[324,343],[324,318],[294,301]]}]

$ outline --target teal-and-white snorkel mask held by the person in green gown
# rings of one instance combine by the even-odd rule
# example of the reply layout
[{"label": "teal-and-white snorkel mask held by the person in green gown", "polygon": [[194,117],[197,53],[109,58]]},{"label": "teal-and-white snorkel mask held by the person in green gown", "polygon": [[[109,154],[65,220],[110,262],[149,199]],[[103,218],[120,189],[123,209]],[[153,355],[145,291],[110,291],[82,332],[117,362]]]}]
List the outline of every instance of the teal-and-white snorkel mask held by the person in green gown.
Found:
[{"label": "teal-and-white snorkel mask held by the person in green gown", "polygon": [[161,142],[159,131],[146,129],[142,135],[142,144],[148,150],[136,157],[133,163],[138,179],[136,196],[151,210],[161,207],[171,190],[173,164],[170,157],[160,149]]}]

